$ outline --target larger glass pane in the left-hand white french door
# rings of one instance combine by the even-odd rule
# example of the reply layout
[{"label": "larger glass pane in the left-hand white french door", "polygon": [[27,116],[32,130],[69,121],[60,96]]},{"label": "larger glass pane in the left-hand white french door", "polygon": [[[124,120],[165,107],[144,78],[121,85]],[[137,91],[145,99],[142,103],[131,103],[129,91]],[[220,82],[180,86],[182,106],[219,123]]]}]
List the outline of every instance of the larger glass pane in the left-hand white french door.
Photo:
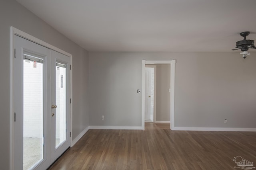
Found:
[{"label": "larger glass pane in the left-hand white french door", "polygon": [[43,160],[44,61],[23,54],[23,169]]}]

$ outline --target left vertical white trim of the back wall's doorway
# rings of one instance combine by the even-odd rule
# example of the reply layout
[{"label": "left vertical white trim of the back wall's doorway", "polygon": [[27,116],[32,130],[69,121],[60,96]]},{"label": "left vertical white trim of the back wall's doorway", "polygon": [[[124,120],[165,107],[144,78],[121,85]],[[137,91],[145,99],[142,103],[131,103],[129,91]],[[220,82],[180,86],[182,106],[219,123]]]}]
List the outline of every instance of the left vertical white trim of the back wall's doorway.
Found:
[{"label": "left vertical white trim of the back wall's doorway", "polygon": [[145,129],[145,64],[146,60],[142,60],[142,108],[141,108],[141,129]]}]

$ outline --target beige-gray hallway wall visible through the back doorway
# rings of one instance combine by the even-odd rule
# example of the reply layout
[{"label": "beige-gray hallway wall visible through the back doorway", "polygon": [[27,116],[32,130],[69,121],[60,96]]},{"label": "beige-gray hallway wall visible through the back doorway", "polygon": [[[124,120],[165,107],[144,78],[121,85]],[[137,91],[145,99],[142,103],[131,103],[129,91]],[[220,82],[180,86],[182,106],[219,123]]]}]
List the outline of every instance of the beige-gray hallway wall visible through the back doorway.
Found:
[{"label": "beige-gray hallway wall visible through the back doorway", "polygon": [[156,121],[170,121],[170,68],[156,65]]}]

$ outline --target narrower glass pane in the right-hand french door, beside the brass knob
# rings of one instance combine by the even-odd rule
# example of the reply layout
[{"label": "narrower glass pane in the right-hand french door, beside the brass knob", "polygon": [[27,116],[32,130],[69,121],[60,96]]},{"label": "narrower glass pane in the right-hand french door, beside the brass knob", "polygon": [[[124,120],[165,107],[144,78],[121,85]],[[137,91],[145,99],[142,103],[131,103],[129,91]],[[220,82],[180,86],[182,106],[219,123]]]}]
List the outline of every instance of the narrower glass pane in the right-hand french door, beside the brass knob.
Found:
[{"label": "narrower glass pane in the right-hand french door, beside the brass knob", "polygon": [[66,65],[56,63],[55,148],[66,141]]}]

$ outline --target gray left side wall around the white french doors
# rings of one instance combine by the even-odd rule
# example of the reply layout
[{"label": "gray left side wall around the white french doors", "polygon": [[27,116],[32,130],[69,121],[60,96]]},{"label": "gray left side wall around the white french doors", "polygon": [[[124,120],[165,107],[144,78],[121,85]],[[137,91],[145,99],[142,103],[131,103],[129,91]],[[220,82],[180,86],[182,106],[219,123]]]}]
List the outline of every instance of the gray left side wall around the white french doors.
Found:
[{"label": "gray left side wall around the white french doors", "polygon": [[10,150],[10,26],[73,55],[73,138],[88,127],[88,52],[15,0],[0,1],[0,165],[9,169]]}]

